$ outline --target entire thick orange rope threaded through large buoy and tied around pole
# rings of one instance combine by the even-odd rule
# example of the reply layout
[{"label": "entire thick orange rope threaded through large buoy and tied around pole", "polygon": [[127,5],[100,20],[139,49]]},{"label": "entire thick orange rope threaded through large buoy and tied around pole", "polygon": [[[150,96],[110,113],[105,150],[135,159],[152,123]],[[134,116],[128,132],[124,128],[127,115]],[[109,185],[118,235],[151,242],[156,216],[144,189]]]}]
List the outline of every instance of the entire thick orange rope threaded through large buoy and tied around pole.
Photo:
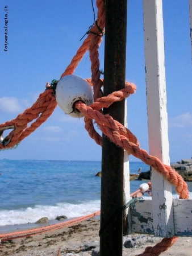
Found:
[{"label": "entire thick orange rope threaded through large buoy and tied around pole", "polygon": [[[147,151],[139,147],[139,142],[137,141],[135,135],[126,129],[119,122],[115,121],[110,117],[110,115],[103,115],[102,108],[107,108],[115,101],[120,101],[125,97],[130,96],[136,90],[136,86],[127,83],[126,88],[120,90],[119,92],[114,92],[107,97],[102,97],[101,87],[103,86],[103,80],[100,79],[101,72],[99,71],[99,53],[98,48],[101,44],[102,37],[98,35],[101,34],[101,30],[105,27],[105,1],[97,0],[98,7],[98,26],[93,26],[91,31],[95,34],[90,33],[87,38],[82,43],[82,46],[78,49],[76,55],[73,57],[71,63],[62,73],[61,77],[65,75],[70,75],[74,72],[74,69],[80,63],[85,52],[89,49],[90,60],[91,60],[91,84],[93,84],[94,89],[94,104],[91,106],[86,106],[84,102],[76,102],[75,107],[85,115],[85,128],[88,131],[91,138],[95,140],[96,143],[102,145],[101,136],[95,131],[93,125],[93,119],[97,122],[102,133],[107,135],[116,145],[127,150],[128,154],[132,154],[137,158],[141,159],[144,163],[152,166],[154,170],[160,172],[166,179],[168,179],[175,187],[177,193],[180,195],[181,199],[188,199],[189,192],[187,189],[187,184],[182,179],[182,177],[172,169],[170,166],[163,164],[155,156],[151,156]],[[99,27],[99,28],[98,28]],[[53,90],[45,90],[41,93],[37,101],[31,108],[28,108],[24,113],[18,115],[12,121],[2,123],[0,129],[6,126],[15,126],[14,134],[11,138],[11,133],[6,137],[6,140],[10,140],[9,144],[3,146],[0,144],[0,150],[8,149],[14,147],[22,139],[27,137],[32,131],[35,131],[41,123],[45,122],[47,118],[52,114],[53,110],[56,108],[56,100],[53,96]],[[34,121],[35,120],[35,121]],[[34,122],[32,122],[34,121]],[[28,123],[31,123],[30,127],[27,127]],[[164,238],[160,243],[157,243],[154,247],[148,247],[145,249],[143,254],[139,256],[155,256],[160,255],[162,251],[167,250],[174,242],[177,241],[177,237]]]}]

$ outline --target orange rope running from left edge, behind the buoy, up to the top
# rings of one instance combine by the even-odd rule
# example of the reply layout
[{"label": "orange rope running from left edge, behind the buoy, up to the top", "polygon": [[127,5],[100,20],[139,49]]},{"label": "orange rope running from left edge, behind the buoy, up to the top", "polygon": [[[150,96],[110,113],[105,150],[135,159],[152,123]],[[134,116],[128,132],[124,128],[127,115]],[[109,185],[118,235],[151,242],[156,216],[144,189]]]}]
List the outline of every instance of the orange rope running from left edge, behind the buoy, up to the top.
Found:
[{"label": "orange rope running from left edge, behind the buoy, up to the top", "polygon": [[[98,26],[103,29],[105,27],[105,2],[103,0],[97,0],[98,7]],[[97,34],[101,34],[98,30],[97,26],[93,26],[91,31],[97,32]],[[100,36],[95,36],[90,33],[87,38],[82,43],[82,46],[78,49],[76,55],[73,57],[71,63],[65,69],[65,72],[62,73],[61,77],[65,75],[70,75],[76,69],[78,63],[80,63],[82,57],[84,57],[85,52],[89,49],[91,40],[96,40],[101,38]],[[15,126],[14,134],[11,138],[12,132],[6,137],[8,141],[11,138],[9,144],[3,146],[0,144],[0,150],[5,150],[16,146],[19,142],[21,142],[24,138],[30,135],[33,131],[37,129],[43,122],[47,120],[47,118],[53,113],[57,106],[57,102],[55,96],[53,95],[53,90],[45,90],[45,92],[41,93],[37,101],[31,108],[26,109],[23,113],[19,114],[18,117],[12,119],[11,121],[7,121],[0,125],[0,129],[6,126]],[[35,120],[36,119],[36,120]],[[35,120],[35,121],[34,121]],[[34,121],[34,122],[32,122]],[[29,127],[27,127],[28,123],[31,123]]]}]

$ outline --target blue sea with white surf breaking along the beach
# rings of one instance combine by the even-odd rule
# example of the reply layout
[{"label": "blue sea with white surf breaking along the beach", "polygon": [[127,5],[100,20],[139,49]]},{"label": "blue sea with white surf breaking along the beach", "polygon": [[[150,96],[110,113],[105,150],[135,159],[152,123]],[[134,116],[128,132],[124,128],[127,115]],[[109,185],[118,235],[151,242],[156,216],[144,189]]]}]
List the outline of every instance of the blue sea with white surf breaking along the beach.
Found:
[{"label": "blue sea with white surf breaking along the beach", "polygon": [[[138,174],[140,167],[149,170],[143,162],[130,162],[130,173]],[[0,232],[42,217],[54,223],[57,216],[75,218],[100,210],[99,171],[99,161],[0,160]],[[146,182],[131,181],[131,193]],[[174,189],[173,194],[178,198]]]}]

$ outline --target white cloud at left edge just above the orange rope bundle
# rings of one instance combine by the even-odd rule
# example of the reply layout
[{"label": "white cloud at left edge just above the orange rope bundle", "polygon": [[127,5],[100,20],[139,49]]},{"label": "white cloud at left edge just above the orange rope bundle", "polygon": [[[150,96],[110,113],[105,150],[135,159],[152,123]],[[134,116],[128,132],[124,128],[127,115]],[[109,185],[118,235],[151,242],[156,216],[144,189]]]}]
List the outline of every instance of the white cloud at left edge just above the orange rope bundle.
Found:
[{"label": "white cloud at left edge just above the orange rope bundle", "polygon": [[0,112],[1,113],[18,113],[23,112],[22,105],[18,98],[15,97],[3,97],[0,98]]}]

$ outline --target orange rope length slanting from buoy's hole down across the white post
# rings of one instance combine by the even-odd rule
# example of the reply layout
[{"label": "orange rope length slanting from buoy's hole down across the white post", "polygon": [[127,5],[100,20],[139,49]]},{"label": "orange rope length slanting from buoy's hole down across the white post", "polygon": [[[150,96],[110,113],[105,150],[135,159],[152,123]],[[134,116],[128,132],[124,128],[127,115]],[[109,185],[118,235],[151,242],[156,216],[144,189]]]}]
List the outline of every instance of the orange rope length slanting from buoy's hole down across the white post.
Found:
[{"label": "orange rope length slanting from buoy's hole down across the white post", "polygon": [[[142,160],[144,163],[153,167],[156,171],[160,172],[165,179],[169,180],[170,183],[176,187],[176,192],[178,195],[180,195],[181,199],[189,198],[187,184],[182,179],[181,175],[178,174],[178,172],[176,172],[172,167],[166,166],[166,164],[162,163],[158,158],[149,155],[147,151],[141,149],[137,141],[136,143],[132,141],[132,138],[135,138],[135,136],[129,136],[130,132],[128,129],[122,130],[119,128],[120,124],[118,121],[112,119],[110,115],[103,115],[101,112],[91,108],[91,106],[86,106],[82,101],[76,102],[75,107],[81,113],[84,113],[85,117],[95,119],[95,122],[97,122],[97,125],[101,129],[102,133],[110,138],[111,141],[117,146],[124,148],[128,154],[132,154],[136,158]],[[125,133],[125,130],[127,133]]]}]

